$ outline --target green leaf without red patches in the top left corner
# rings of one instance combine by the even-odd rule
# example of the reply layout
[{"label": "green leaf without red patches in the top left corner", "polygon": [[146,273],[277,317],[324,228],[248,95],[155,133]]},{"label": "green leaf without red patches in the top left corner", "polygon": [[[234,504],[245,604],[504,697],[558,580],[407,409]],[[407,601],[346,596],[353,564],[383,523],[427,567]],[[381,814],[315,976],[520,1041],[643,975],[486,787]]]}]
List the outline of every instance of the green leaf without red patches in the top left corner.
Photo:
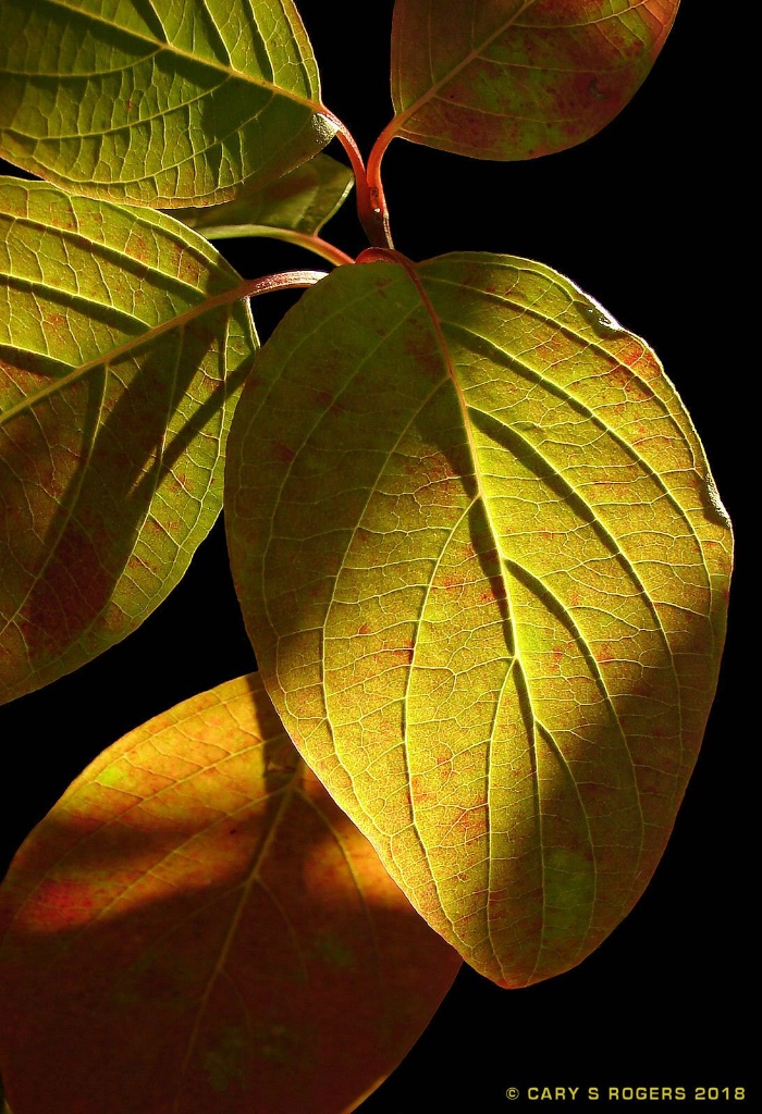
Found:
[{"label": "green leaf without red patches in the top left corner", "polygon": [[0,154],[74,193],[224,202],[324,147],[322,111],[292,0],[0,6]]}]

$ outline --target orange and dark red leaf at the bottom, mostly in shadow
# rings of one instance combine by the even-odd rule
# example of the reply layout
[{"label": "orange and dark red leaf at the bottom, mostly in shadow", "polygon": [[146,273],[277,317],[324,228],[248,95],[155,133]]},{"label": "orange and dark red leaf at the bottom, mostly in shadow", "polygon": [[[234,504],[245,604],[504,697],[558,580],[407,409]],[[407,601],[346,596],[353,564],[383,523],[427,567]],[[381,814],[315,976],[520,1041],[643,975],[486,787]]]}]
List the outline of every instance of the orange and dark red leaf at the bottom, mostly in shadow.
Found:
[{"label": "orange and dark red leaf at the bottom, mostly in shadow", "polygon": [[256,675],[105,751],[0,896],[16,1114],[353,1110],[460,964],[300,761]]}]

